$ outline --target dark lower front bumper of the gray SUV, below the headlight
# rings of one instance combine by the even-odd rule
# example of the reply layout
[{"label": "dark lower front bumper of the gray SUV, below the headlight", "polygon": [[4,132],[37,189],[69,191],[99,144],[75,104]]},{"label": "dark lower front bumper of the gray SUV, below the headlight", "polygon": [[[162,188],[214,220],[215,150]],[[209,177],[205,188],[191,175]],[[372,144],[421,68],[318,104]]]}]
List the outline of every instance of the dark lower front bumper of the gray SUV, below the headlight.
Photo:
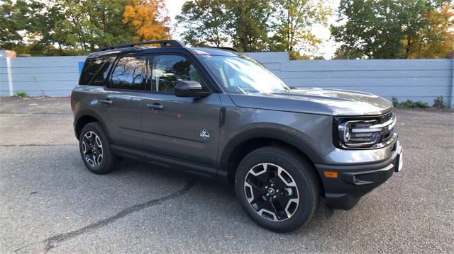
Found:
[{"label": "dark lower front bumper of the gray SUV, below the headlight", "polygon": [[[399,141],[392,145],[389,158],[377,163],[328,165],[316,164],[325,190],[325,202],[333,209],[348,210],[360,198],[384,183],[399,167],[402,146]],[[337,172],[337,178],[326,178],[325,171]]]}]

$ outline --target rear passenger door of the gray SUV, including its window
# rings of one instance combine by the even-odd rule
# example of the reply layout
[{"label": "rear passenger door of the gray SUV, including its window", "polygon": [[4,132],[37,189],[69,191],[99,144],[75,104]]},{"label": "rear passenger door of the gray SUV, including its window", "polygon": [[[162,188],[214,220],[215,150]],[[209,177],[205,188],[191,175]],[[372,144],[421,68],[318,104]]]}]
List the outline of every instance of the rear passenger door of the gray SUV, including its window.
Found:
[{"label": "rear passenger door of the gray SUV, including its window", "polygon": [[145,95],[146,56],[118,57],[105,88],[106,126],[114,144],[140,148],[143,144],[140,105]]}]

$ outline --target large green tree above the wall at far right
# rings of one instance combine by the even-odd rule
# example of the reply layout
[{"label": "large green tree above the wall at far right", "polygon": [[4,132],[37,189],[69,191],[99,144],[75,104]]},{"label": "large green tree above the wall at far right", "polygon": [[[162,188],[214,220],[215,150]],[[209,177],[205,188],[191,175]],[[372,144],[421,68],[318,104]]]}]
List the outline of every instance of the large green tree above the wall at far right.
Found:
[{"label": "large green tree above the wall at far right", "polygon": [[[338,52],[367,58],[408,58],[418,38],[430,27],[428,13],[437,11],[440,0],[341,0],[338,22],[331,26]],[[430,29],[430,28],[429,28]],[[425,37],[425,36],[424,36]],[[339,55],[338,55],[339,57]]]}]

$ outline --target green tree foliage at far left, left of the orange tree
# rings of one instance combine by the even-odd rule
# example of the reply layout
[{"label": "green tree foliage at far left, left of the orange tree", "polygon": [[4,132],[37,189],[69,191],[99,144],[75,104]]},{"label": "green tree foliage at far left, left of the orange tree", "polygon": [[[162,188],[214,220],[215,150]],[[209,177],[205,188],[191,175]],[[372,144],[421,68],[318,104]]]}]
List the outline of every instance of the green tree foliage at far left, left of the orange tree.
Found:
[{"label": "green tree foliage at far left, left of the orange tree", "polygon": [[[126,3],[127,0],[17,0],[16,4],[9,1],[6,4],[12,6],[9,8],[13,12],[2,16],[0,22],[11,21],[20,31],[16,39],[8,38],[9,45],[18,53],[87,54],[132,40],[133,30],[122,21]],[[9,27],[1,25],[1,29]]]}]

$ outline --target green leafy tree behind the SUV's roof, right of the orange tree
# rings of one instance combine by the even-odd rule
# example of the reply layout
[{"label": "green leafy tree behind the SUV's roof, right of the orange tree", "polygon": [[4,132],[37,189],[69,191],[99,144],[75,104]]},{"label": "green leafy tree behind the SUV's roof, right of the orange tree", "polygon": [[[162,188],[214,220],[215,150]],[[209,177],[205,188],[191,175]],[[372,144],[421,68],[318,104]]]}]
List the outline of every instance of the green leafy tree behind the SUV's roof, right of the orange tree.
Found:
[{"label": "green leafy tree behind the SUV's roof, right of the orange tree", "polygon": [[184,42],[193,46],[231,43],[244,52],[268,47],[267,33],[272,6],[265,0],[189,0],[177,16]]}]

